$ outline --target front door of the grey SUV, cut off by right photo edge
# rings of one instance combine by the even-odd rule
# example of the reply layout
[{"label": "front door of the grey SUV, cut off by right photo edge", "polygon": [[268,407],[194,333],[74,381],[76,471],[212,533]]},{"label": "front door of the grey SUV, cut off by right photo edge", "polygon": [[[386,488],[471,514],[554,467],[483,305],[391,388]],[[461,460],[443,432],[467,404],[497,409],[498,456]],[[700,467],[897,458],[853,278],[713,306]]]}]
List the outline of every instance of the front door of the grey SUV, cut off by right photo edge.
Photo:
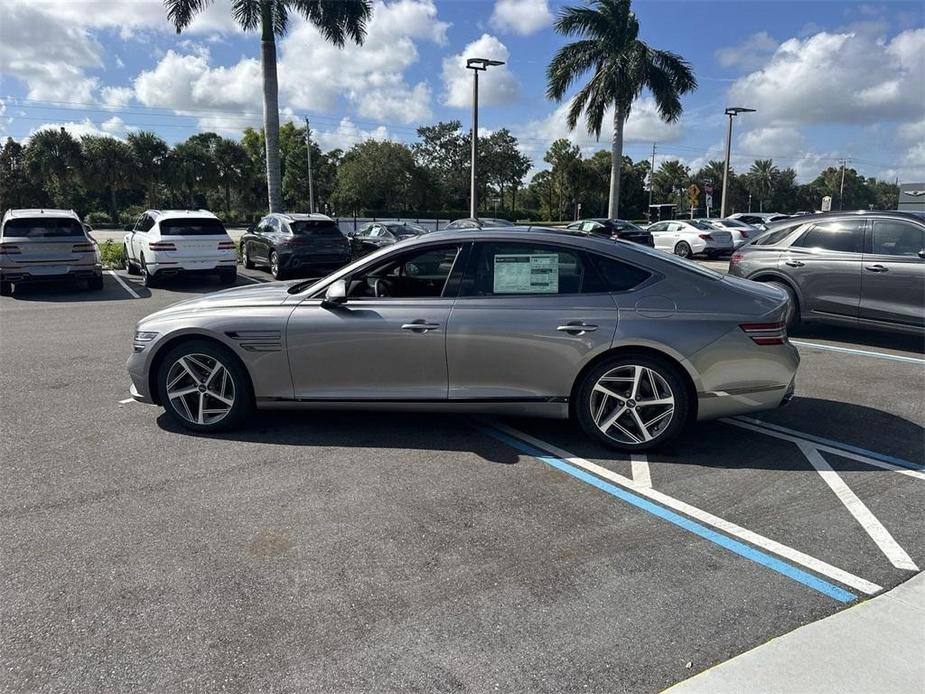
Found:
[{"label": "front door of the grey SUV, cut off by right photo edge", "polygon": [[925,326],[925,227],[872,219],[861,271],[859,317]]}]

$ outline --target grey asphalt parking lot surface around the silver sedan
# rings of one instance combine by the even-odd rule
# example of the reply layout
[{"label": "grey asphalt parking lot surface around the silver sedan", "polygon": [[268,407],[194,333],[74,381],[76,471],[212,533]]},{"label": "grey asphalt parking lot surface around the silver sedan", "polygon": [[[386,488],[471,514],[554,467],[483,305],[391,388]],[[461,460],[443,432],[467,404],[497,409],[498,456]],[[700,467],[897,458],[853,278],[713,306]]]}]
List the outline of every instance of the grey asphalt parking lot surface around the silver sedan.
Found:
[{"label": "grey asphalt parking lot surface around the silver sedan", "polygon": [[790,406],[633,459],[526,419],[195,436],[124,363],[220,288],[0,299],[5,689],[656,692],[925,564],[919,339],[806,329]]}]

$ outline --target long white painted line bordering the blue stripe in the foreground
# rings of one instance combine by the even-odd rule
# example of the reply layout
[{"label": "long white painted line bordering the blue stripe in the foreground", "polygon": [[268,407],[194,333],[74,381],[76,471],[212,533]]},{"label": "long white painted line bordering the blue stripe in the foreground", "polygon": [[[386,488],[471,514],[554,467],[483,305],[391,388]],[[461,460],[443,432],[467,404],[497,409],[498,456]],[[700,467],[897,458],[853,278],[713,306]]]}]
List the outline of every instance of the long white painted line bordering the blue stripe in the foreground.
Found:
[{"label": "long white painted line bordering the blue stripe in the foreground", "polygon": [[876,583],[867,581],[843,569],[839,569],[837,566],[832,566],[831,564],[828,564],[820,559],[816,559],[815,557],[811,557],[808,554],[804,554],[797,549],[783,545],[780,542],[764,537],[763,535],[759,535],[758,533],[752,532],[751,530],[747,530],[739,525],[736,525],[735,523],[720,518],[719,516],[714,516],[712,513],[699,509],[696,506],[691,506],[690,504],[685,503],[680,499],[675,499],[674,497],[668,496],[667,494],[662,494],[661,492],[654,489],[643,487],[628,477],[617,474],[616,472],[608,470],[607,468],[597,465],[596,463],[592,463],[589,460],[585,460],[584,458],[579,458],[574,454],[569,453],[568,451],[558,448],[557,446],[553,446],[550,443],[546,443],[545,441],[530,436],[529,434],[525,434],[522,431],[512,429],[511,427],[500,424],[498,422],[491,422],[491,426],[506,432],[510,436],[519,438],[522,441],[527,441],[537,448],[549,451],[550,453],[559,456],[566,462],[571,463],[576,467],[584,468],[588,472],[591,472],[598,477],[603,477],[604,479],[613,482],[614,484],[618,484],[621,487],[630,489],[640,496],[648,497],[649,499],[652,499],[652,501],[656,501],[663,506],[667,506],[668,508],[672,508],[675,511],[679,511],[680,513],[690,516],[691,518],[694,518],[705,525],[711,525],[714,528],[722,530],[728,535],[732,535],[733,537],[737,537],[740,540],[751,543],[767,552],[771,552],[785,559],[789,559],[795,564],[805,566],[807,569],[815,571],[817,574],[831,578],[846,586],[850,586],[851,588],[859,590],[862,593],[873,595],[874,593],[883,590],[883,588],[878,586]]}]

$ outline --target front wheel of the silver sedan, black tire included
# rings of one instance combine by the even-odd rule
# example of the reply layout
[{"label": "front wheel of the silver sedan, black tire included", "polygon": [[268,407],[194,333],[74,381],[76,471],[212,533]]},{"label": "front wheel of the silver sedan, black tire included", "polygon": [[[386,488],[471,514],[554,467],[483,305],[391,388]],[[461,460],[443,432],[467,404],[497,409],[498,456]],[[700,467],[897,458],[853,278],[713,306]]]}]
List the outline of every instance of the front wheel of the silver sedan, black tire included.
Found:
[{"label": "front wheel of the silver sedan, black tire included", "polygon": [[194,431],[240,425],[254,400],[241,362],[229,349],[208,340],[173,347],[161,361],[157,387],[167,414]]}]

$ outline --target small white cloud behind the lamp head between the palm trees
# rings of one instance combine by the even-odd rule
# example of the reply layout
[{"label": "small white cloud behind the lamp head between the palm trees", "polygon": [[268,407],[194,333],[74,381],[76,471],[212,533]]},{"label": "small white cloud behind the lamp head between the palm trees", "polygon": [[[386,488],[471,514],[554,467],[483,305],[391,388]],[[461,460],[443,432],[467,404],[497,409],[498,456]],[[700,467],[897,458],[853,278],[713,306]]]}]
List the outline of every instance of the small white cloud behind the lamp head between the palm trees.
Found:
[{"label": "small white cloud behind the lamp head between the palm trees", "polygon": [[[472,70],[466,69],[467,58],[488,58],[507,62],[508,50],[491,34],[466,46],[461,53],[443,59],[443,103],[459,108],[472,107]],[[497,106],[517,100],[520,85],[507,65],[490,67],[479,74],[479,105]]]}]

